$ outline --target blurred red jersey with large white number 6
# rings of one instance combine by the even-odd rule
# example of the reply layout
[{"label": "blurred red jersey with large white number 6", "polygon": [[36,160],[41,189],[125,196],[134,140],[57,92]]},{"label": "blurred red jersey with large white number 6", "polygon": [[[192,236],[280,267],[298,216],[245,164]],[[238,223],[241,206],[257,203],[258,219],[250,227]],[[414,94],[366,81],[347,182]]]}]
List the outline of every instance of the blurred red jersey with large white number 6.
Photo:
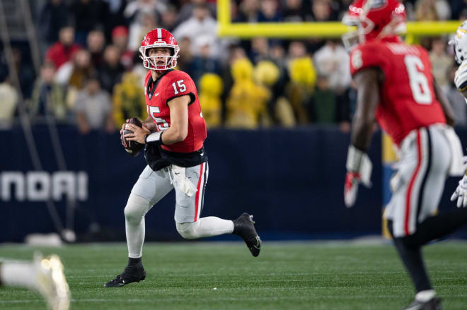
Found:
[{"label": "blurred red jersey with large white number 6", "polygon": [[384,73],[376,120],[400,144],[413,129],[446,123],[434,95],[432,65],[422,47],[400,42],[398,37],[371,40],[350,53],[350,73],[378,67]]}]

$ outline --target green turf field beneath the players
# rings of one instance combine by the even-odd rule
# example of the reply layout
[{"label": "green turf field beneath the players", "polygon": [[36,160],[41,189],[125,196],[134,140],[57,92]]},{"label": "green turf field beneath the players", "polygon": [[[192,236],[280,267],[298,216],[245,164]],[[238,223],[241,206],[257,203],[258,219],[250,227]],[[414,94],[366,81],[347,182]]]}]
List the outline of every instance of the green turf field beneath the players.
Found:
[{"label": "green turf field beneath the players", "polygon": [[[147,278],[121,288],[103,283],[126,264],[125,244],[58,249],[71,309],[401,309],[413,289],[390,245],[265,242],[258,258],[242,243],[146,244]],[[30,259],[34,249],[0,246],[0,256]],[[467,309],[467,243],[425,248],[444,309]],[[214,290],[216,288],[216,290]],[[0,288],[0,309],[45,309],[38,294]]]}]

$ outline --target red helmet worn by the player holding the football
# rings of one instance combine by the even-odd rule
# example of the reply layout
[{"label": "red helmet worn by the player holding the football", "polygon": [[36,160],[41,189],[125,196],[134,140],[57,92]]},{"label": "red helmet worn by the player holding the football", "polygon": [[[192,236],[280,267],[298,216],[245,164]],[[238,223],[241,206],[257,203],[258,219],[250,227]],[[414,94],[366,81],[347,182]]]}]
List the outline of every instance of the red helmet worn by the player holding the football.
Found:
[{"label": "red helmet worn by the player holding the football", "polygon": [[[157,59],[160,59],[161,56],[149,56],[149,49],[155,47],[168,47],[171,49],[171,56],[165,56],[166,59],[164,64],[158,64]],[[141,47],[139,47],[139,57],[143,59],[144,68],[149,68],[155,71],[166,71],[168,69],[174,68],[177,66],[178,52],[180,52],[180,47],[178,47],[175,37],[163,28],[156,28],[144,36]]]}]

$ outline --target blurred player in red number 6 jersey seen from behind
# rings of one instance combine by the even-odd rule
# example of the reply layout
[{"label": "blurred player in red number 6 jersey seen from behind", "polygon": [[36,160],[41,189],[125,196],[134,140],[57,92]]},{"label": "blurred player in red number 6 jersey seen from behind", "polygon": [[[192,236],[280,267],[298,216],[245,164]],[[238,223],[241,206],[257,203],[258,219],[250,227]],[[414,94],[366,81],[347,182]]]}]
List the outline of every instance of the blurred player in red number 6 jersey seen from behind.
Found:
[{"label": "blurred player in red number 6 jersey seen from behind", "polygon": [[434,81],[427,51],[404,44],[398,37],[405,30],[403,4],[355,0],[342,22],[357,27],[342,37],[350,49],[350,71],[357,85],[345,204],[354,205],[359,183],[370,184],[371,162],[366,152],[376,120],[393,139],[400,159],[384,216],[415,285],[415,299],[407,309],[441,309],[421,247],[467,222],[467,209],[434,215],[446,177],[463,174],[451,107]]}]

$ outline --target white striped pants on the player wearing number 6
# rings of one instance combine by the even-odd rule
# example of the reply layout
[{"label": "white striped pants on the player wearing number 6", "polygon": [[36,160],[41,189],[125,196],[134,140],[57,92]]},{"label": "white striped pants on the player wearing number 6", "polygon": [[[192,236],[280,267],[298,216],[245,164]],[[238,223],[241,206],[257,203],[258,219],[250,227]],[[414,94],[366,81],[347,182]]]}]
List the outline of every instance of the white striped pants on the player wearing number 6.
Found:
[{"label": "white striped pants on the player wearing number 6", "polygon": [[385,210],[393,221],[394,237],[414,234],[417,224],[433,215],[449,173],[451,150],[438,125],[409,133],[400,145],[393,196]]}]

